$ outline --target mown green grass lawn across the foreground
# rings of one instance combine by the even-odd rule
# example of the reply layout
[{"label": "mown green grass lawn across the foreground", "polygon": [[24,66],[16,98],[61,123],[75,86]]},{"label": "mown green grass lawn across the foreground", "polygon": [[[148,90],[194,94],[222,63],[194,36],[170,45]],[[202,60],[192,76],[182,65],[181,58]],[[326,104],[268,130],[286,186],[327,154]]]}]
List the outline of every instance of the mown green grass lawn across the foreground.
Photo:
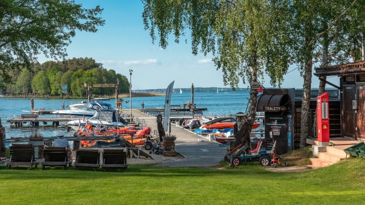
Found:
[{"label": "mown green grass lawn across the foreground", "polygon": [[363,204],[365,160],[301,173],[130,166],[126,172],[6,169],[0,204]]}]

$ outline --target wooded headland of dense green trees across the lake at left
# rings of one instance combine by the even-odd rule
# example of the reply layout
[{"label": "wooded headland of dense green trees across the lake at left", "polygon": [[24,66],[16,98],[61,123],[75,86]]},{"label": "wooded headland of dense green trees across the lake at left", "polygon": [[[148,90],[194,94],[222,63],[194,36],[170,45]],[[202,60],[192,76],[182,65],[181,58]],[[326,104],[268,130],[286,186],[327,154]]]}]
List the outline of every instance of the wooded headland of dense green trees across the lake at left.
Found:
[{"label": "wooded headland of dense green trees across the lake at left", "polygon": [[[93,58],[72,58],[64,61],[33,63],[29,68],[10,71],[12,81],[2,85],[0,94],[6,96],[62,96],[61,85],[67,85],[68,97],[86,96],[85,84],[116,84],[119,92],[129,92],[126,76],[107,70]],[[114,95],[114,88],[93,88],[95,96]]]}]

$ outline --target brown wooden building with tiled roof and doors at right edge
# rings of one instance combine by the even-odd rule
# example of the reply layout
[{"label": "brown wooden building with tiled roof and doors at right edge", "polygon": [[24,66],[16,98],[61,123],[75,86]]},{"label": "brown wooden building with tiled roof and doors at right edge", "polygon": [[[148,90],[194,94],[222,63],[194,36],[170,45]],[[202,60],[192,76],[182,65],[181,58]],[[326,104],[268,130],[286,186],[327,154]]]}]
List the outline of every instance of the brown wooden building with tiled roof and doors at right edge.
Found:
[{"label": "brown wooden building with tiled roof and doors at right edge", "polygon": [[340,78],[340,86],[325,82],[340,90],[341,136],[365,140],[365,61],[318,67],[314,75]]}]

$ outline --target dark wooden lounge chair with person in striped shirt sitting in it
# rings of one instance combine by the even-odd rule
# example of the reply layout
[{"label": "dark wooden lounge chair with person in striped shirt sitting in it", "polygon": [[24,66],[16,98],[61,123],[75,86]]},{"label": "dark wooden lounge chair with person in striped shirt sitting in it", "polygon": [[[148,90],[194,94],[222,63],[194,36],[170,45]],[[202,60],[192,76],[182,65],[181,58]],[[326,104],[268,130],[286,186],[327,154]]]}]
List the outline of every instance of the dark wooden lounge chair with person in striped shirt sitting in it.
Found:
[{"label": "dark wooden lounge chair with person in striped shirt sitting in it", "polygon": [[46,166],[63,166],[67,169],[67,165],[71,166],[72,160],[69,160],[66,148],[47,147],[43,150],[44,162],[41,162],[42,169]]}]

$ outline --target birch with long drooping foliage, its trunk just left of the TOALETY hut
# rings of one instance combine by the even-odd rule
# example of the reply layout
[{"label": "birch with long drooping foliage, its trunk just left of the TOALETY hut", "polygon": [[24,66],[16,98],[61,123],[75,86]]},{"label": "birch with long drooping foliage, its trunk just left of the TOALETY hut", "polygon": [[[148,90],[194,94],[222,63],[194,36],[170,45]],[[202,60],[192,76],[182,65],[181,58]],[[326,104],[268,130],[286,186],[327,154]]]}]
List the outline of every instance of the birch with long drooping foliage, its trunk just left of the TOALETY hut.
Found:
[{"label": "birch with long drooping foliage, its trunk just left of the TOALETY hut", "polygon": [[[213,55],[223,82],[232,89],[240,80],[257,81],[266,72],[272,85],[281,85],[289,65],[288,1],[143,0],[145,29],[152,41],[166,48],[170,35],[179,42],[191,30],[193,54]],[[250,94],[251,122],[256,115],[255,89]],[[244,108],[242,108],[243,110]]]}]

